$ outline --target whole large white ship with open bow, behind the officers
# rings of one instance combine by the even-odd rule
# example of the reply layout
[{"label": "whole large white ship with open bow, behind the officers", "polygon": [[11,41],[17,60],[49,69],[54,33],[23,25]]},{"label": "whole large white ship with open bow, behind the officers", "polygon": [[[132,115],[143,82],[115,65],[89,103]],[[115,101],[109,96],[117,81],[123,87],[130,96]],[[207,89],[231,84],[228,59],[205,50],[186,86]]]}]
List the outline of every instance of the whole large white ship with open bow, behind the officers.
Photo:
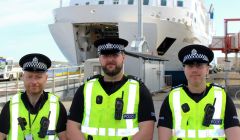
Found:
[{"label": "whole large white ship with open bow, behind the officers", "polygon": [[[131,44],[138,33],[139,0],[71,0],[54,10],[50,32],[68,61],[79,65],[97,57],[93,42],[121,37]],[[209,45],[212,41],[212,8],[204,0],[143,0],[143,37],[148,53],[169,61],[165,74],[182,78],[178,51],[187,44]],[[133,51],[129,45],[127,51]],[[173,79],[173,82],[174,79]],[[181,82],[181,81],[179,81]]]}]

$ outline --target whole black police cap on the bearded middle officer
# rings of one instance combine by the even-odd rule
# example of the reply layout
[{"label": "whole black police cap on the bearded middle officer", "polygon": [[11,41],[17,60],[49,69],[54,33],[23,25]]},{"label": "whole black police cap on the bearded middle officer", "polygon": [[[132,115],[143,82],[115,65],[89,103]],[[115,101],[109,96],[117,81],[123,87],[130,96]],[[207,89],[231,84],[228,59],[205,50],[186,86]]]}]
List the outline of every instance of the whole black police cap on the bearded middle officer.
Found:
[{"label": "whole black police cap on the bearded middle officer", "polygon": [[128,41],[122,38],[104,38],[94,42],[99,55],[124,52],[127,45]]}]

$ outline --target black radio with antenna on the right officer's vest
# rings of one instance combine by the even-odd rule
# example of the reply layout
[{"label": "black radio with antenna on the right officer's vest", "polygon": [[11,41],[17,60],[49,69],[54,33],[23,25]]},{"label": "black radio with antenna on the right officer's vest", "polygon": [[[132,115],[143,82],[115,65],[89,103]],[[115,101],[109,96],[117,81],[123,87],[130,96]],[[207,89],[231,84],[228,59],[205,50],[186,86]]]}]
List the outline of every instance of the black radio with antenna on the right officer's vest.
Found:
[{"label": "black radio with antenna on the right officer's vest", "polygon": [[214,107],[214,105],[207,104],[204,111],[205,111],[205,114],[204,114],[202,125],[208,127],[211,124],[212,117],[215,112],[215,107]]}]

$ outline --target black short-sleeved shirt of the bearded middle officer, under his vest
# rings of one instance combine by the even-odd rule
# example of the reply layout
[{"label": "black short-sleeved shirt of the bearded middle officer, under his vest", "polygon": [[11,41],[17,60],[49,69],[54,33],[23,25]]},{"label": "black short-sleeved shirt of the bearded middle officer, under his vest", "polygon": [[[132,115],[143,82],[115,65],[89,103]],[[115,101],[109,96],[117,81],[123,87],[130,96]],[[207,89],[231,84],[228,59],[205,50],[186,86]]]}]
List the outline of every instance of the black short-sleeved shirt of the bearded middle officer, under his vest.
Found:
[{"label": "black short-sleeved shirt of the bearded middle officer, under his vest", "polygon": [[[110,96],[120,89],[126,82],[128,77],[124,76],[122,80],[116,82],[105,82],[103,77],[99,78],[99,82],[105,92]],[[84,85],[80,86],[74,95],[72,105],[70,107],[69,120],[82,123],[84,112]],[[153,120],[156,121],[155,110],[153,106],[152,96],[147,87],[140,82],[139,106],[138,106],[138,122]]]}]

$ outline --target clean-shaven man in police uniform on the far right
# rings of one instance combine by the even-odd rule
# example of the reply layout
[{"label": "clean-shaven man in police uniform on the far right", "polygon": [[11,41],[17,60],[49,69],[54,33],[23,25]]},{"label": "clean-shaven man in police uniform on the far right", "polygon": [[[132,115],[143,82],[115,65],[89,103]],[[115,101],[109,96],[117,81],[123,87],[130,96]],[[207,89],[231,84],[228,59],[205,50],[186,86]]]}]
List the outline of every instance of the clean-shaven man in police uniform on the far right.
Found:
[{"label": "clean-shaven man in police uniform on the far right", "polygon": [[179,51],[187,85],[173,88],[164,100],[158,120],[159,140],[240,139],[233,101],[222,87],[206,82],[213,57],[208,47],[197,44]]}]

